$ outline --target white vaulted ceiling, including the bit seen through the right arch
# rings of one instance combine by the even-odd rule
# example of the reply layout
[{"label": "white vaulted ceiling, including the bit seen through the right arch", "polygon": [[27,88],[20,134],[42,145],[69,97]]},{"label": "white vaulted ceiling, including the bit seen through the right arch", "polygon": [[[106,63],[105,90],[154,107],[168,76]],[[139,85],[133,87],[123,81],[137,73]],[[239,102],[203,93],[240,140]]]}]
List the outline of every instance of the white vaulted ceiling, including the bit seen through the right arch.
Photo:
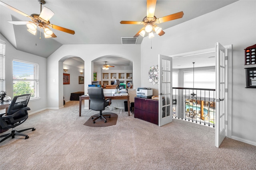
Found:
[{"label": "white vaulted ceiling, including the bit seen through the right arch", "polygon": [[[133,37],[142,28],[142,25],[120,24],[120,21],[142,21],[146,16],[146,0],[45,1],[46,4],[44,6],[54,12],[50,22],[54,25],[74,30],[74,35],[52,29],[57,36],[56,38],[45,39],[42,35],[42,38],[39,39],[39,33],[37,36],[32,35],[26,30],[26,25],[13,25],[7,22],[30,21],[30,18],[26,18],[2,5],[0,6],[0,33],[16,49],[45,58],[49,57],[64,44],[121,44],[121,37]],[[158,0],[156,2],[155,16],[160,18],[176,12],[184,12],[183,18],[158,24],[164,30],[222,8],[235,1]],[[40,4],[37,0],[2,0],[2,2],[28,15],[40,14]],[[137,44],[141,42],[142,37],[139,36]],[[104,61],[112,62],[112,59],[100,59],[98,62],[103,65]],[[113,64],[120,63],[114,57],[113,62],[115,62]],[[123,61],[123,63],[130,64],[128,61]],[[108,64],[111,65],[112,63]]]}]

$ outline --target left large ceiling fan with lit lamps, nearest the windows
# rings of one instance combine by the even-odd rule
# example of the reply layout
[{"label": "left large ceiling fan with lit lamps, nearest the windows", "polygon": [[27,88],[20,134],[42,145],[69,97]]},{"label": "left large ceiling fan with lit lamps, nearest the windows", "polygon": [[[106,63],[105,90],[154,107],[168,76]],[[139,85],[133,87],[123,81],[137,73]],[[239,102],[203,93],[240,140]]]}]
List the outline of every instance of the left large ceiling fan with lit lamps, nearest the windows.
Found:
[{"label": "left large ceiling fan with lit lamps, nearest the windows", "polygon": [[[0,1],[0,4],[2,6],[5,6],[15,12],[18,12],[19,14],[26,16],[28,18],[30,18],[32,21],[8,21],[9,23],[12,23],[14,25],[27,25],[28,27],[28,31],[34,35],[36,35],[36,30],[37,27],[39,27],[40,29],[42,28],[44,30],[44,37],[45,38],[55,38],[57,37],[50,28],[53,29],[57,29],[66,33],[70,33],[70,34],[75,34],[75,31],[71,30],[71,29],[67,29],[64,27],[60,27],[57,25],[54,25],[52,23],[50,23],[50,18],[52,18],[52,16],[54,15],[54,12],[52,12],[52,10],[50,10],[49,8],[46,8],[44,6],[44,8],[42,9],[42,4],[45,4],[46,2],[44,0],[38,0],[39,4],[40,4],[40,15],[38,14],[31,14],[30,16],[25,14],[24,12],[21,12],[20,10],[17,10],[16,8],[13,8],[12,6],[5,4],[4,2]],[[41,38],[41,37],[40,37]]]}]

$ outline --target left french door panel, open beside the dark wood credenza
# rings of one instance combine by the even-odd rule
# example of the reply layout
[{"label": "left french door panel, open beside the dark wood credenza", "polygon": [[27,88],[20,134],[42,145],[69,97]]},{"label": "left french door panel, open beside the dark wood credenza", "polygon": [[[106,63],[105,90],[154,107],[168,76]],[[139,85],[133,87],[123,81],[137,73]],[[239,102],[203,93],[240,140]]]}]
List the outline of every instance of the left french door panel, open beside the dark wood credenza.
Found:
[{"label": "left french door panel, open beside the dark wood credenza", "polygon": [[158,55],[158,126],[172,122],[172,57]]}]

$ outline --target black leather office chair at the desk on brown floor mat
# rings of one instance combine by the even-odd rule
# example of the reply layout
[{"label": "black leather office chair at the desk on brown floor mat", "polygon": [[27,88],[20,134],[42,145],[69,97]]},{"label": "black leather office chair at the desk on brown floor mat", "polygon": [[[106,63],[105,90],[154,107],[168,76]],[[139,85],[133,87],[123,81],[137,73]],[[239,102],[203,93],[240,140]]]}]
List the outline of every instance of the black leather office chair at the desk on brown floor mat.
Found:
[{"label": "black leather office chair at the desk on brown floor mat", "polygon": [[89,109],[100,111],[99,115],[95,115],[97,116],[95,119],[93,119],[95,116],[92,116],[93,123],[95,123],[99,118],[104,119],[106,123],[107,119],[104,116],[108,116],[110,118],[111,115],[102,115],[102,110],[105,110],[105,107],[110,106],[111,99],[105,99],[103,88],[101,87],[88,87],[88,95],[90,97]]}]

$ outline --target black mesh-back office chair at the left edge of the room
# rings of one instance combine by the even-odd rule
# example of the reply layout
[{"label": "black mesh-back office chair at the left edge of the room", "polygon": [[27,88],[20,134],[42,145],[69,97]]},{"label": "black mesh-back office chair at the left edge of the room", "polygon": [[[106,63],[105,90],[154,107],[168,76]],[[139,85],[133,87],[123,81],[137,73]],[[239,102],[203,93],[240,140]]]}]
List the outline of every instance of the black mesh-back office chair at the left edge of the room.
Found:
[{"label": "black mesh-back office chair at the left edge of the room", "polygon": [[22,124],[26,119],[28,119],[28,101],[30,99],[30,94],[23,94],[19,96],[14,96],[10,106],[8,107],[7,113],[3,113],[0,115],[0,130],[1,133],[4,131],[8,131],[8,129],[12,128],[12,132],[8,134],[1,135],[0,138],[5,137],[0,141],[0,143],[9,137],[14,138],[15,135],[24,136],[25,139],[28,139],[28,135],[22,134],[20,132],[27,131],[32,129],[32,131],[36,130],[34,127],[23,129],[20,131],[16,131],[14,127]]}]

